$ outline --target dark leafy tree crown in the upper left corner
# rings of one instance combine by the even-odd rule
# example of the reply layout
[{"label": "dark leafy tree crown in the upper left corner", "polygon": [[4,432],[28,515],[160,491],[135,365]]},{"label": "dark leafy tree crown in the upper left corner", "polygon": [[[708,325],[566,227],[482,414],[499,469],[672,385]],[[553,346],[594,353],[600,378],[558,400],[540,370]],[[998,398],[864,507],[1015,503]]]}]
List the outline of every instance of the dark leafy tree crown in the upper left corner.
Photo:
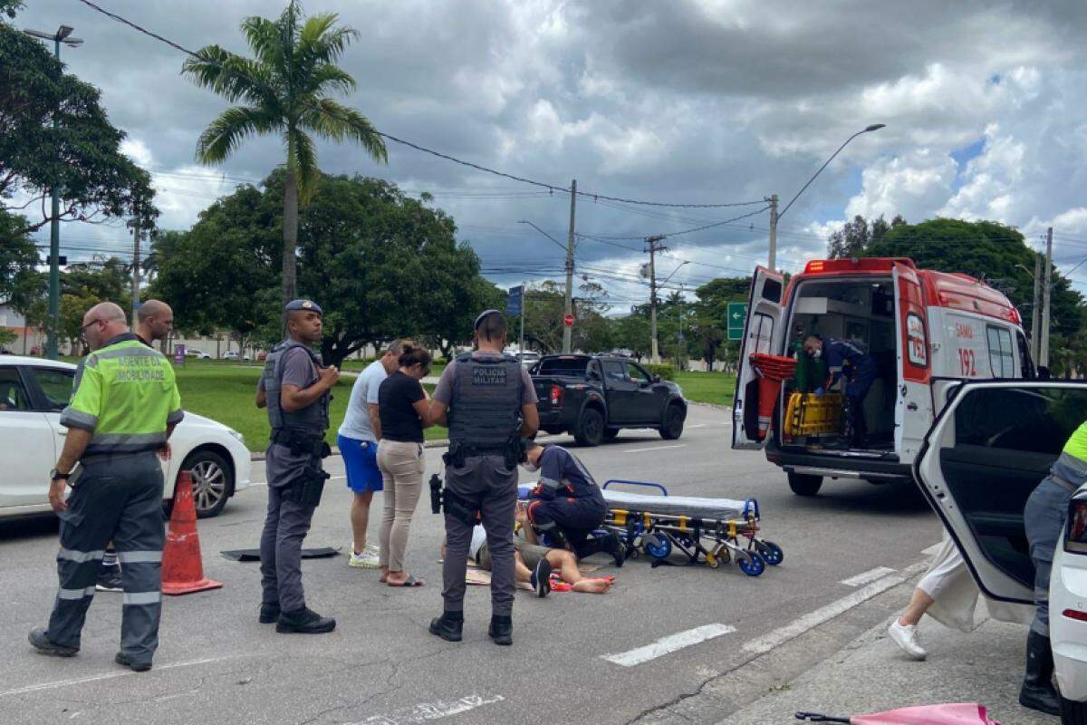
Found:
[{"label": "dark leafy tree crown in the upper left corner", "polygon": [[151,177],[121,152],[124,137],[97,88],[64,74],[41,42],[0,23],[0,210],[41,210],[18,232],[53,220],[45,203],[53,188],[60,221],[138,216],[153,227]]}]

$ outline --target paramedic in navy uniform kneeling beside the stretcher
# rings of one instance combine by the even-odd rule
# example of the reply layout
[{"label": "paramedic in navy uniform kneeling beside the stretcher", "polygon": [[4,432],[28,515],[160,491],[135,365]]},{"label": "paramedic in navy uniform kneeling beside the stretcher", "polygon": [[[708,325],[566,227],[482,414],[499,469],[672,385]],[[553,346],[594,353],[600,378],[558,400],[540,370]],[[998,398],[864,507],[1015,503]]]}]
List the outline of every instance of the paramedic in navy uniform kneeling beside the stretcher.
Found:
[{"label": "paramedic in navy uniform kneeling beside the stretcher", "polygon": [[528,503],[528,521],[538,533],[561,536],[578,559],[605,552],[614,558],[616,566],[623,565],[623,546],[617,536],[591,537],[604,523],[608,505],[597,482],[576,455],[561,446],[532,442],[522,466],[540,474]]}]

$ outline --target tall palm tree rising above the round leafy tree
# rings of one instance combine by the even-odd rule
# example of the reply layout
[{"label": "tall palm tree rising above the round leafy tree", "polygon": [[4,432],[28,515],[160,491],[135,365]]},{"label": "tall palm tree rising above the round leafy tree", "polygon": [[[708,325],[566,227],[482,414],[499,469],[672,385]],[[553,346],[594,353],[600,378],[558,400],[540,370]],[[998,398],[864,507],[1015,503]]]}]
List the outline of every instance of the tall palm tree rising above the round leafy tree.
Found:
[{"label": "tall palm tree rising above the round leafy tree", "polygon": [[211,122],[197,140],[197,160],[226,161],[252,135],[277,134],[287,150],[283,201],[283,300],[295,298],[295,248],[298,204],[309,202],[321,174],[311,132],[337,141],[352,139],[375,161],[386,161],[385,142],[370,121],[354,109],[329,98],[329,90],[349,92],[354,78],[336,65],[359,33],[334,27],[337,15],[302,16],[291,0],[276,21],[254,15],[241,32],[255,59],[242,58],[218,46],[205,46],[185,61],[182,73],[197,85],[245,105],[229,108]]}]

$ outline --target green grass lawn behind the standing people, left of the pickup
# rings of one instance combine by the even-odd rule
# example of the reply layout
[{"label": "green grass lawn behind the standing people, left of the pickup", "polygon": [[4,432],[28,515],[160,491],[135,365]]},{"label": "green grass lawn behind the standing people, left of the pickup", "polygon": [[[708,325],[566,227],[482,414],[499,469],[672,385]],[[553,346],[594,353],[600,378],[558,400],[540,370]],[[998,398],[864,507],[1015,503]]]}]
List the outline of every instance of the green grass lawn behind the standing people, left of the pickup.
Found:
[{"label": "green grass lawn behind the standing people, left of the pickup", "polygon": [[[239,365],[223,362],[188,361],[177,367],[177,388],[182,405],[187,411],[228,425],[246,437],[249,450],[264,450],[268,440],[267,412],[253,404],[257,382],[261,377],[259,364]],[[432,373],[433,374],[433,373]],[[351,397],[354,376],[342,376],[333,388],[332,425],[328,442],[336,445],[336,430],[343,422],[347,402]],[[426,386],[433,390],[433,386]],[[427,439],[445,438],[445,428],[427,428]]]}]

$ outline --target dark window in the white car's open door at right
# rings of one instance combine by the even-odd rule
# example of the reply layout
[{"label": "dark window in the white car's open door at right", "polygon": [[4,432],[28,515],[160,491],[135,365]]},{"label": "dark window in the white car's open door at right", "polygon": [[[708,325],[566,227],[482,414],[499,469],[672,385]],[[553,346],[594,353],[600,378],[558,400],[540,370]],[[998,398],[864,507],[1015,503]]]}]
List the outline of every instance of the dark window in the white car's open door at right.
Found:
[{"label": "dark window in the white car's open door at right", "polygon": [[955,410],[955,445],[1059,455],[1087,421],[1084,388],[973,390]]}]

